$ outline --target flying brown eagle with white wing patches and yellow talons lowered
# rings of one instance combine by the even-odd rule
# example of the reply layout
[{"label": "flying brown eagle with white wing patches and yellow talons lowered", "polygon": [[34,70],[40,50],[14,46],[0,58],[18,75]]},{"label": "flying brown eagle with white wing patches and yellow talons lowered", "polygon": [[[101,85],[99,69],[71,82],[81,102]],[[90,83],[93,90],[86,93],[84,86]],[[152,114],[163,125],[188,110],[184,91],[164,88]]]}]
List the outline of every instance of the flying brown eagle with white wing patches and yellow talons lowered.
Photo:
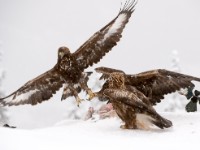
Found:
[{"label": "flying brown eagle with white wing patches and yellow talons lowered", "polygon": [[0,105],[36,105],[50,99],[64,84],[62,100],[74,96],[79,104],[78,93],[83,89],[93,96],[87,86],[90,73],[84,69],[100,61],[122,37],[122,31],[135,10],[135,0],[127,1],[118,15],[96,32],[77,51],[71,53],[67,47],[58,49],[57,64],[44,74],[28,81],[17,91],[0,99]]}]

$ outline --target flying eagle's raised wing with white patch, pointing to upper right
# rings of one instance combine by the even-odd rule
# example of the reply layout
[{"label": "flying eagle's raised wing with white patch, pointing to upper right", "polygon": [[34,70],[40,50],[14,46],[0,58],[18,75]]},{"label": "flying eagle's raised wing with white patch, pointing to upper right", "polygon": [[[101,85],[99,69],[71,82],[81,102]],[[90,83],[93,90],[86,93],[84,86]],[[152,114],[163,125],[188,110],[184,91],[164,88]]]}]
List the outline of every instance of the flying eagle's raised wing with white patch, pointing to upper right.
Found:
[{"label": "flying eagle's raised wing with white patch, pointing to upper right", "polygon": [[127,1],[116,18],[96,32],[73,53],[79,69],[84,70],[94,63],[99,62],[106,53],[117,45],[117,42],[122,37],[121,34],[125,25],[135,10],[136,3],[135,0]]}]

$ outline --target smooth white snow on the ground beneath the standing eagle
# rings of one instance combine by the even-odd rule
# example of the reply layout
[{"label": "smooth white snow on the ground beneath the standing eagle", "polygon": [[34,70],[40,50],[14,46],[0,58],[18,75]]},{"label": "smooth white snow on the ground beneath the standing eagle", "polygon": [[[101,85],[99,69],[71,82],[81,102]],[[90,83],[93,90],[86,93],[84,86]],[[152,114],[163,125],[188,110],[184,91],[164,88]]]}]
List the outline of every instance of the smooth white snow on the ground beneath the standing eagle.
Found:
[{"label": "smooth white snow on the ground beneath the standing eagle", "polygon": [[1,150],[191,149],[199,146],[200,113],[161,113],[169,129],[124,130],[117,118],[65,120],[43,129],[0,128]]}]

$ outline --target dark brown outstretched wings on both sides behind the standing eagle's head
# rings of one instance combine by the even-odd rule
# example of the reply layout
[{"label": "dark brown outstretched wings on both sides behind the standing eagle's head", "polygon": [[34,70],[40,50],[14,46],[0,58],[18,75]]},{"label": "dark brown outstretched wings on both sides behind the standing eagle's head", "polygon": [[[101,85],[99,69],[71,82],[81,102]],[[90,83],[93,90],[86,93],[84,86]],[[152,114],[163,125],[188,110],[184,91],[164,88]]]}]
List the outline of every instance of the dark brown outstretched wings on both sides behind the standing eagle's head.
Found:
[{"label": "dark brown outstretched wings on both sides behind the standing eagle's head", "polygon": [[[104,90],[108,87],[108,79],[110,74],[114,72],[124,73],[122,70],[98,67],[95,69],[98,73],[102,73],[100,79],[105,79],[106,82],[102,86],[99,92],[95,95],[101,99],[106,99],[103,94]],[[200,78],[168,71],[165,69],[157,69],[142,72],[139,74],[125,74],[125,85],[130,85],[142,92],[148,97],[151,105],[156,105],[164,99],[164,95],[170,94],[176,91],[180,91],[184,88],[193,88],[195,85],[192,81],[200,82]]]}]

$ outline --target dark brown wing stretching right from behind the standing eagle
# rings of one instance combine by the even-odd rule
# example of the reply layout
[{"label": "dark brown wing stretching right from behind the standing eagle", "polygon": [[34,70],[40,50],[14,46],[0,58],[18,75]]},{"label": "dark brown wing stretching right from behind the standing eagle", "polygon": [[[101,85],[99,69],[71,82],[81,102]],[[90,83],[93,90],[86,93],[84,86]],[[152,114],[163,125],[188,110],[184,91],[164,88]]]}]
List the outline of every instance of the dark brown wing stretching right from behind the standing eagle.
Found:
[{"label": "dark brown wing stretching right from behind the standing eagle", "polygon": [[154,105],[164,99],[165,94],[194,87],[192,81],[200,82],[200,78],[172,72],[164,69],[126,75],[126,84],[132,85],[150,98]]}]

